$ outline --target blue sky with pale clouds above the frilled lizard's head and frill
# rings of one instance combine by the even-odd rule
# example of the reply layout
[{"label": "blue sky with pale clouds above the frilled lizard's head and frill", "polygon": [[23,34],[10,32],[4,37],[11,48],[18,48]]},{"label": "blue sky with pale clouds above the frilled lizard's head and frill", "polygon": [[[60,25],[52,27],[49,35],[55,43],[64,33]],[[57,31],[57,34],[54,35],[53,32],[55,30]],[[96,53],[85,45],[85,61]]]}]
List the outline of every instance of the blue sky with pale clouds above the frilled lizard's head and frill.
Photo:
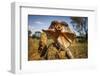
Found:
[{"label": "blue sky with pale clouds above the frilled lizard's head and frill", "polygon": [[28,15],[28,29],[34,34],[35,31],[48,29],[51,22],[54,20],[67,22],[70,29],[75,32],[71,24],[70,16]]}]

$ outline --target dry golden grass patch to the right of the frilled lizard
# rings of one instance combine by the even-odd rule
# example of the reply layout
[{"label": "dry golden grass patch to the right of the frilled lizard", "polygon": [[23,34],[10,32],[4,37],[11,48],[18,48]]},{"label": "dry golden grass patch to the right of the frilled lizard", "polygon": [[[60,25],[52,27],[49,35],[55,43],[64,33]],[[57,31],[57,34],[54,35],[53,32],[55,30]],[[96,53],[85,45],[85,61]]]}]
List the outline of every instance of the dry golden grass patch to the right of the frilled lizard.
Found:
[{"label": "dry golden grass patch to the right of the frilled lizard", "polygon": [[76,42],[70,47],[74,58],[88,58],[88,44],[87,42],[79,43]]}]

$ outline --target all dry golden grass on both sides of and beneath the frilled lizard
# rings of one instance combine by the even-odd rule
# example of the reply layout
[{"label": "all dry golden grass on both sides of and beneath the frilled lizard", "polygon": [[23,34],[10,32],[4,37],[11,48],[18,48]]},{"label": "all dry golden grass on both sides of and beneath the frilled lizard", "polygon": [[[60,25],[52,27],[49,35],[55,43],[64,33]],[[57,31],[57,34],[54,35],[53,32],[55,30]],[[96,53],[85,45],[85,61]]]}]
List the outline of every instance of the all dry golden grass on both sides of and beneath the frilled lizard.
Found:
[{"label": "all dry golden grass on both sides of and beneath the frilled lizard", "polygon": [[[52,40],[49,40],[48,44],[50,44]],[[39,39],[32,39],[31,37],[28,40],[28,60],[44,60],[43,57],[40,57],[40,53],[38,53],[38,47],[39,47]],[[80,58],[88,58],[88,45],[86,42],[83,43],[73,43],[70,47],[70,50],[72,54],[74,55],[75,59]],[[48,59],[58,59],[56,57],[57,49],[55,47],[51,46],[48,49]],[[59,56],[61,56],[61,59],[67,59],[65,57],[64,52],[58,53]]]}]

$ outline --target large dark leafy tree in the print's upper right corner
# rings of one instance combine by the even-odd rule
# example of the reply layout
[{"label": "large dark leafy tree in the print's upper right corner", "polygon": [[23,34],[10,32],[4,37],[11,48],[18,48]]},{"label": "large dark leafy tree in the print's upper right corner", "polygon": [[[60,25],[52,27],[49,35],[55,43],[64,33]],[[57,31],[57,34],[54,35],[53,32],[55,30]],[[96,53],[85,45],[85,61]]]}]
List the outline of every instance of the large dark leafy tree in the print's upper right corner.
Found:
[{"label": "large dark leafy tree in the print's upper right corner", "polygon": [[88,36],[88,18],[87,17],[71,17],[73,28],[80,36]]}]

